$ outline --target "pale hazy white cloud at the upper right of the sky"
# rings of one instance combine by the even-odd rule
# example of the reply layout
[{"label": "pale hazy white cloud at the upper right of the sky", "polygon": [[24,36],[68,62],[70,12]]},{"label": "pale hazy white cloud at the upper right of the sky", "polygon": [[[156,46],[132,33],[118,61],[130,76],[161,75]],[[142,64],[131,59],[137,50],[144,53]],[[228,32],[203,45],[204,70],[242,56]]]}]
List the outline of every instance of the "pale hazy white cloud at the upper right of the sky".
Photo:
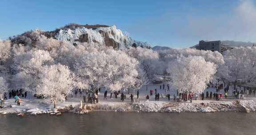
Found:
[{"label": "pale hazy white cloud at the upper right of the sky", "polygon": [[179,36],[198,40],[240,40],[256,42],[256,5],[242,0],[232,14],[189,16],[184,28],[177,28]]}]

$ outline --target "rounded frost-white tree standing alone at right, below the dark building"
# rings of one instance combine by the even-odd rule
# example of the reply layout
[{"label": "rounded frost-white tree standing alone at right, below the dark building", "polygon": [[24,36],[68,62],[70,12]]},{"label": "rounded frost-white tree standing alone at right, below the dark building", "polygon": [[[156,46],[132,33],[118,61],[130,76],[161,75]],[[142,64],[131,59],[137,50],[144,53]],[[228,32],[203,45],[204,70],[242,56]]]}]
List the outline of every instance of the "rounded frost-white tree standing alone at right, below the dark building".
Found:
[{"label": "rounded frost-white tree standing alone at right, below the dark building", "polygon": [[172,87],[179,92],[201,93],[216,72],[216,65],[201,56],[173,60],[167,72],[172,76]]}]

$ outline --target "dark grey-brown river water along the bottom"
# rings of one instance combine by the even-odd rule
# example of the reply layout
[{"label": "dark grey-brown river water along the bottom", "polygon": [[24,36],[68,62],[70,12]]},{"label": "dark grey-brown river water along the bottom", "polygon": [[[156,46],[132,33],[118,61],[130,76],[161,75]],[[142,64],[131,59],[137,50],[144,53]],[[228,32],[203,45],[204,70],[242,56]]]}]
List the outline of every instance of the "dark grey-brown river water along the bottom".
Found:
[{"label": "dark grey-brown river water along the bottom", "polygon": [[256,113],[0,115],[0,135],[256,135]]}]

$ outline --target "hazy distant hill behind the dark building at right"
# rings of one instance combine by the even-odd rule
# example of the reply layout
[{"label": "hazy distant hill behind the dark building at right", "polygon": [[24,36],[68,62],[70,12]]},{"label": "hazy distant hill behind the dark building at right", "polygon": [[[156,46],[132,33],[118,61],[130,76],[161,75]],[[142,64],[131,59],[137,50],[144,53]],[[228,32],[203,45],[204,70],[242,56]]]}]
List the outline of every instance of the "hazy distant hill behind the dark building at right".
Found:
[{"label": "hazy distant hill behind the dark building at right", "polygon": [[[233,40],[224,40],[221,41],[222,44],[228,44],[231,47],[251,47],[253,44],[252,42],[242,42],[242,41],[233,41]],[[190,48],[196,48],[199,44],[196,44]]]}]

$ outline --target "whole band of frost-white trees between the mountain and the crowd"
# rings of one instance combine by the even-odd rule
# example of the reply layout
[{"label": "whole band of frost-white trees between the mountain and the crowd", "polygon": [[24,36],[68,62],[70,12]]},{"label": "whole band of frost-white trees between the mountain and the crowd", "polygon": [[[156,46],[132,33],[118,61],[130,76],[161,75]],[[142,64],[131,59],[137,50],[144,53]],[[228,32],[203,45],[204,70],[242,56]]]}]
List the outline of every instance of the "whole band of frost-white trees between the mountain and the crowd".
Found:
[{"label": "whole band of frost-white trees between the mountain and the crowd", "polygon": [[96,43],[71,43],[35,33],[36,43],[0,41],[0,94],[24,89],[49,102],[64,101],[75,88],[95,91],[140,89],[156,76],[172,89],[201,93],[212,80],[256,87],[256,47],[220,54],[190,48],[117,50]]}]

